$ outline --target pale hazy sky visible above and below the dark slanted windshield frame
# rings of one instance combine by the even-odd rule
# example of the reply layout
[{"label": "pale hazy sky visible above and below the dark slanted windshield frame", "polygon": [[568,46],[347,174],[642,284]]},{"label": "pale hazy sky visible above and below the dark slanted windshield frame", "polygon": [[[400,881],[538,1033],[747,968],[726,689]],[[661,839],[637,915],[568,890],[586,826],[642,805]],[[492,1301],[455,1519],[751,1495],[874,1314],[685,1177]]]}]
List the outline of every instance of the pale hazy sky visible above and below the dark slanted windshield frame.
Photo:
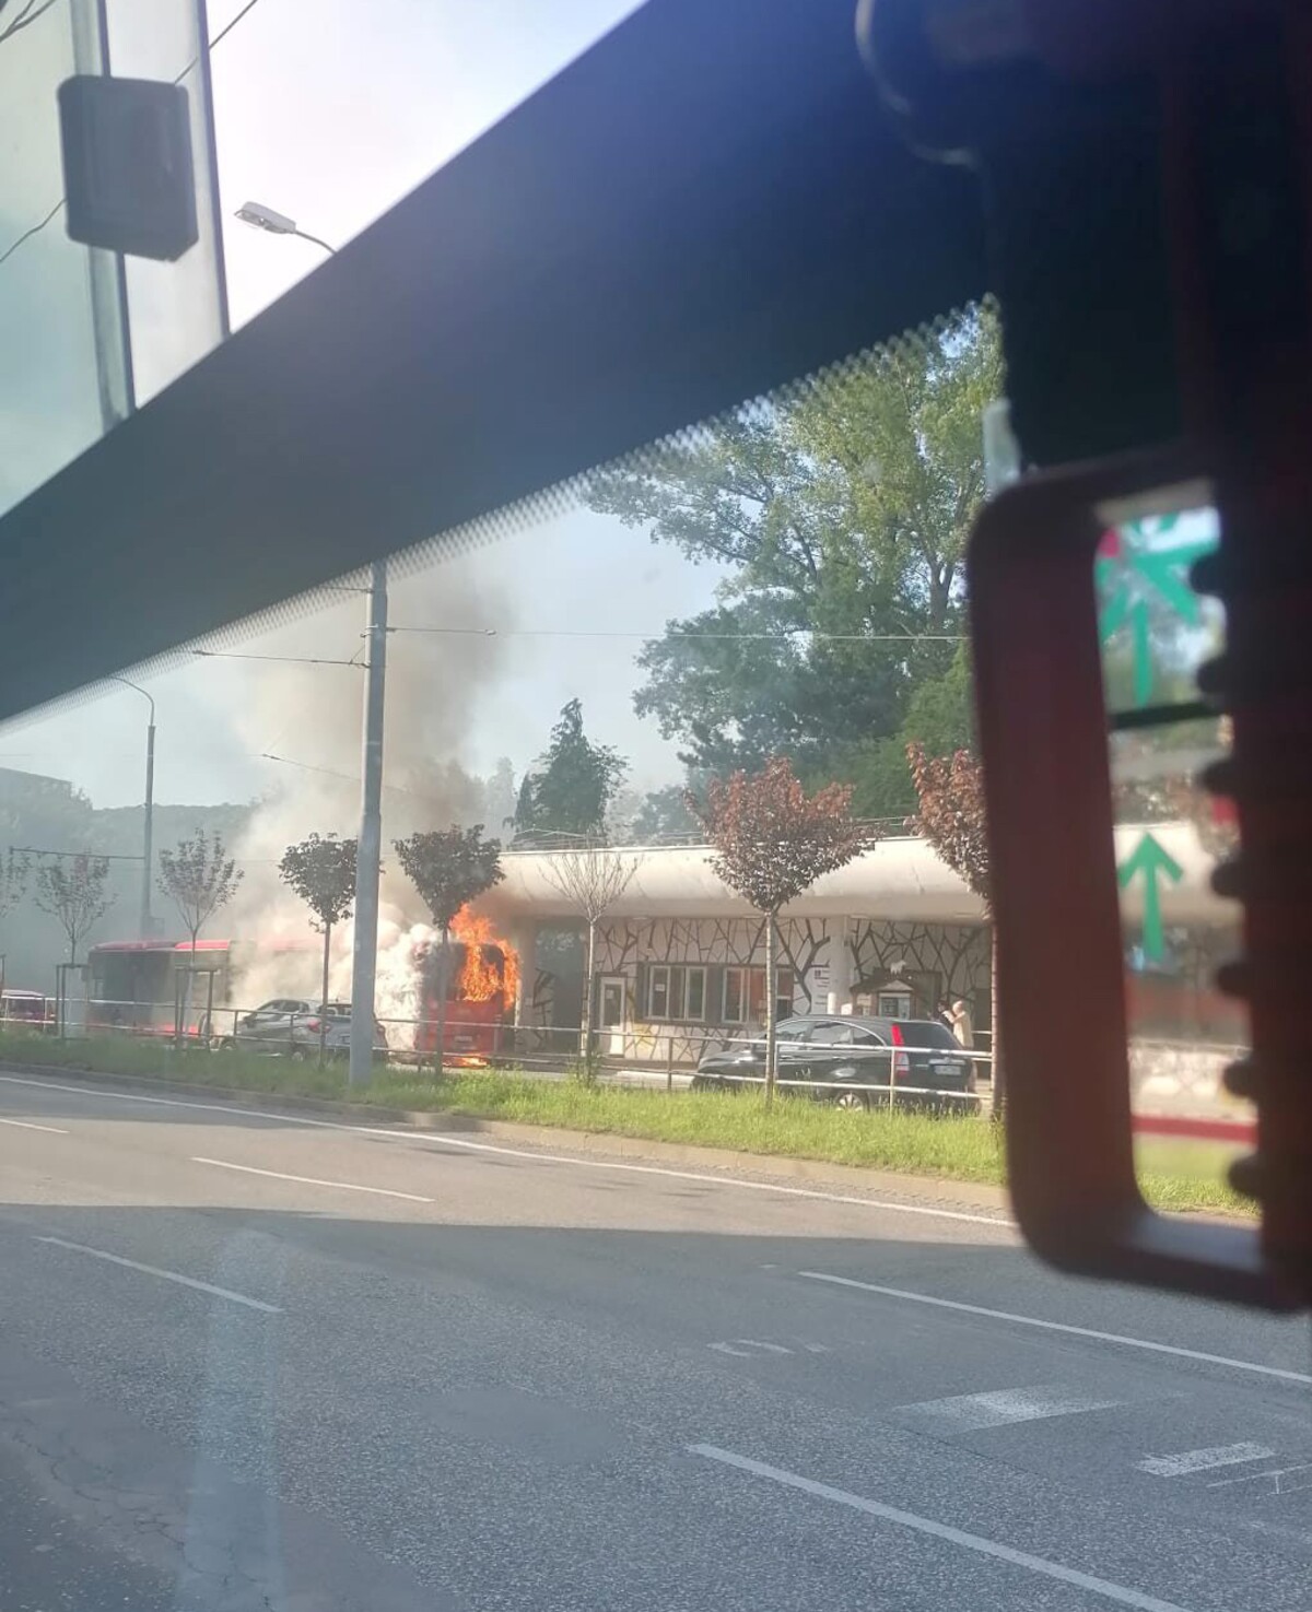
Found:
[{"label": "pale hazy sky visible above and below the dark slanted windshield frame", "polygon": [[[118,3],[132,6],[132,24],[152,40],[177,8],[177,0]],[[211,39],[243,3],[210,0]],[[308,242],[234,219],[242,202],[264,202],[342,243],[630,10],[632,0],[256,0],[211,56],[234,327],[324,261]],[[142,40],[124,35],[116,50],[118,71],[147,69]],[[31,198],[13,203],[18,216],[24,206],[39,216],[50,174],[32,185]],[[63,250],[56,227],[24,248],[32,250],[32,272],[44,261],[37,248]],[[488,772],[503,754],[522,769],[559,708],[579,696],[590,735],[632,759],[635,787],[674,782],[674,746],[632,709],[633,654],[669,617],[704,608],[716,577],[645,532],[587,511],[525,527],[472,558],[393,584],[395,624],[477,627],[393,635],[395,687],[419,690],[416,698],[432,688],[432,698],[469,709],[471,721],[440,727],[440,743],[448,746],[442,759],[471,771]],[[242,650],[350,659],[363,613],[364,601],[345,595],[335,609]],[[156,800],[263,795],[287,782],[287,762],[268,761],[268,753],[343,766],[343,754],[358,751],[343,729],[359,709],[361,680],[355,667],[237,659],[193,659],[153,677]],[[395,703],[405,706],[400,695]],[[97,806],[132,804],[142,793],[143,717],[145,701],[132,690],[97,693],[0,727],[0,766],[71,779]],[[388,740],[401,742],[397,729],[411,719],[409,708],[390,701]]]}]

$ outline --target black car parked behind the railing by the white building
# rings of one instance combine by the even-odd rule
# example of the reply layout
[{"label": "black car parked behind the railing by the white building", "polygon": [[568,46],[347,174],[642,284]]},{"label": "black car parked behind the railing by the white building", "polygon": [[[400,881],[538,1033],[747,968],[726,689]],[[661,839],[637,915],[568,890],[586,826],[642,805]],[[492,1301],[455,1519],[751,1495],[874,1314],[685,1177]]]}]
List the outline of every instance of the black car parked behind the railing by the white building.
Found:
[{"label": "black car parked behind the railing by the white building", "polygon": [[[891,1095],[901,1104],[945,1111],[975,1104],[975,1066],[945,1024],[932,1019],[785,1019],[778,1025],[777,1077],[783,1090],[812,1086],[819,1103],[872,1107]],[[761,1038],[708,1053],[695,1091],[733,1090],[766,1074]],[[796,1085],[793,1085],[796,1083]],[[869,1088],[883,1090],[869,1090]]]}]

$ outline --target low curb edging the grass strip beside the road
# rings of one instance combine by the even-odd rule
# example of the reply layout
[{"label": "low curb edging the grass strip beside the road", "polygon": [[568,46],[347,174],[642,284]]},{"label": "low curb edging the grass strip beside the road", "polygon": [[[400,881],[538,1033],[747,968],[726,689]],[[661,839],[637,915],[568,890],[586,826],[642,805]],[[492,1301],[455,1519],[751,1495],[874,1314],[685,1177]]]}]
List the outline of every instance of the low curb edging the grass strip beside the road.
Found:
[{"label": "low curb edging the grass strip beside the road", "polygon": [[432,1109],[395,1109],[372,1103],[343,1103],[335,1098],[309,1098],[279,1091],[248,1091],[242,1086],[193,1085],[182,1080],[156,1080],[152,1075],[102,1074],[89,1069],[64,1069],[50,1064],[0,1066],[6,1074],[79,1082],[87,1086],[113,1086],[142,1096],[210,1098],[214,1101],[256,1107],[272,1114],[322,1114],[364,1124],[406,1125],[411,1130],[479,1135],[500,1141],[527,1143],[543,1153],[603,1154],[616,1159],[645,1159],[653,1164],[683,1169],[719,1170],[724,1174],[774,1177],[782,1182],[814,1182],[828,1186],[861,1188],[866,1193],[888,1193],[935,1207],[986,1209],[1011,1225],[1011,1203],[1003,1186],[980,1182],[957,1182],[940,1175],[904,1175],[895,1170],[867,1170],[853,1164],[828,1164],[824,1159],[793,1159],[785,1154],[740,1153],[732,1148],[700,1148],[679,1141],[648,1141],[640,1136],[616,1136],[611,1132],[566,1130],[556,1125],[524,1125],[516,1120],[477,1119],[472,1114]]}]

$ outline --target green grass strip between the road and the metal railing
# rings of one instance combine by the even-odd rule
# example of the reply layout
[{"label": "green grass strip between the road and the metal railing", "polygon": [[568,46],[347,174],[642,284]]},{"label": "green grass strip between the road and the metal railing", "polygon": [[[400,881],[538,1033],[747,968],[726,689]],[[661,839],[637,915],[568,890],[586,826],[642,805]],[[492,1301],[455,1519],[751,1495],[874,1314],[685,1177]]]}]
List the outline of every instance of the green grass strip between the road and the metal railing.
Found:
[{"label": "green grass strip between the road and the metal railing", "polygon": [[[367,1088],[348,1088],[340,1064],[318,1069],[250,1053],[176,1051],[166,1041],[106,1037],[58,1041],[52,1037],[0,1035],[0,1062],[52,1069],[103,1070],[240,1091],[345,1098],[385,1107],[427,1109],[479,1119],[554,1125],[596,1135],[729,1148],[762,1156],[819,1159],[866,1169],[904,1170],[959,1182],[1001,1183],[1004,1161],[998,1130],[969,1117],[835,1109],[782,1098],[772,1112],[759,1095],[643,1091],[585,1086],[574,1080],[534,1080],[496,1070],[453,1072],[442,1082],[405,1069],[387,1069]],[[1222,1180],[1222,1161],[1173,1143],[1140,1149],[1144,1194],[1162,1209],[1251,1214]]]}]

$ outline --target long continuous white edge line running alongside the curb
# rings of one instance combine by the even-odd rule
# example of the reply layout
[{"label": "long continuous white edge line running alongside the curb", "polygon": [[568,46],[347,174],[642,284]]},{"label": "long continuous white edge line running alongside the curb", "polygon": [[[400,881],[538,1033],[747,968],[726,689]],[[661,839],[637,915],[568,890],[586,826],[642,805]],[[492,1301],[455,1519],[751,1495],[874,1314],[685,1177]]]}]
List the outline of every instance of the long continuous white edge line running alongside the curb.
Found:
[{"label": "long continuous white edge line running alongside the curb", "polygon": [[[152,1098],[139,1091],[110,1091],[106,1086],[73,1086],[58,1080],[32,1080],[24,1075],[0,1075],[0,1082],[16,1086],[44,1086],[48,1091],[73,1091],[77,1096],[103,1098],[113,1103],[150,1103],[156,1107],[195,1109],[198,1114],[235,1114],[239,1119],[263,1119],[269,1125],[285,1125],[292,1117],[298,1125],[314,1130],[338,1130],[351,1136],[387,1136],[390,1141],[426,1143],[432,1148],[464,1148],[467,1153],[493,1153],[508,1159],[530,1159],[537,1164],[569,1164],[580,1170],[624,1170],[629,1175],[664,1175],[677,1182],[703,1182],[708,1186],[732,1186],[738,1191],[778,1193],[785,1198],[814,1198],[830,1204],[854,1204],[859,1209],[880,1209],[888,1214],[927,1215],[932,1220],[964,1220],[970,1225],[994,1225],[1004,1232],[1015,1230],[1015,1222],[996,1214],[967,1214],[964,1209],[932,1209],[927,1204],[895,1204],[878,1198],[857,1198],[854,1193],[822,1193],[808,1186],[782,1186],[775,1182],[745,1182],[737,1175],[708,1175],[698,1170],[671,1170],[661,1164],[624,1164],[617,1159],[574,1159],[564,1153],[535,1153],[530,1148],[501,1148],[490,1141],[466,1141],[463,1136],[435,1135],[424,1130],[397,1130],[387,1125],[342,1125],[330,1119],[311,1119],[308,1114],[292,1114],[279,1109],[245,1109],[230,1103],[190,1103],[185,1098]],[[767,1164],[762,1157],[762,1165]]]}]

